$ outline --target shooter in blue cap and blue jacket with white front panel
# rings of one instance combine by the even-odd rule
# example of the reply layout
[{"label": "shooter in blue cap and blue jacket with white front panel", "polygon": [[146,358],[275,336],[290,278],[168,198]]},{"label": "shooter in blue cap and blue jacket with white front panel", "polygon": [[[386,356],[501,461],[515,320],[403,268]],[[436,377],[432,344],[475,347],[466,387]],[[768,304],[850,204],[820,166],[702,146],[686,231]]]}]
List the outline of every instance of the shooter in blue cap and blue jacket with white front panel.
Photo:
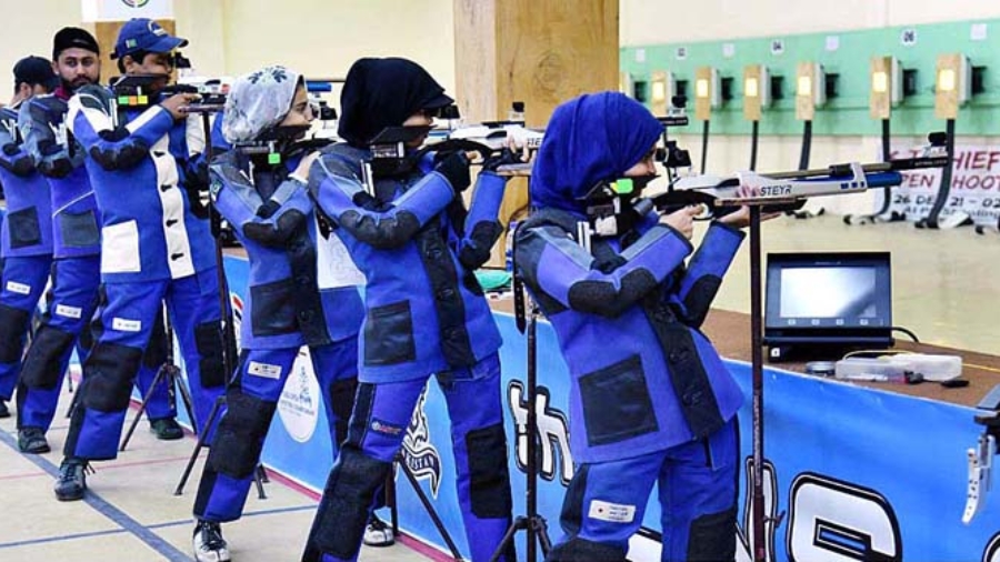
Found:
[{"label": "shooter in blue cap and blue jacket with white front panel", "polygon": [[198,97],[160,94],[173,67],[171,51],[184,44],[154,21],[130,20],[113,57],[127,76],[152,78],[141,96],[132,97],[142,107],[118,107],[123,100],[96,86],[80,88],[69,101],[67,121],[87,152],[101,211],[104,289],[99,335],[83,363],[80,404],[56,483],[60,500],[83,498],[88,462],[117,456],[132,381],[162,301],[180,342],[199,423],[224,391],[214,243],[208,215],[182,189],[190,160],[204,145],[200,120],[183,112]]}]

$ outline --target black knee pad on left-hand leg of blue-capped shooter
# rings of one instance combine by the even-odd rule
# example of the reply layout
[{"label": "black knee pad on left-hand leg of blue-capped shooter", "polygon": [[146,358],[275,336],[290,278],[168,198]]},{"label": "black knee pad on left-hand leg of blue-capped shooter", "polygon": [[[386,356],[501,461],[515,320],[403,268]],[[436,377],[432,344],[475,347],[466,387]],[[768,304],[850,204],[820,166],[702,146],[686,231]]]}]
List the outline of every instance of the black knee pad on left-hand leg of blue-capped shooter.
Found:
[{"label": "black knee pad on left-hand leg of blue-capped shooter", "polygon": [[88,384],[83,405],[100,412],[120,412],[128,408],[140,361],[142,350],[138,348],[99,342],[84,364]]}]

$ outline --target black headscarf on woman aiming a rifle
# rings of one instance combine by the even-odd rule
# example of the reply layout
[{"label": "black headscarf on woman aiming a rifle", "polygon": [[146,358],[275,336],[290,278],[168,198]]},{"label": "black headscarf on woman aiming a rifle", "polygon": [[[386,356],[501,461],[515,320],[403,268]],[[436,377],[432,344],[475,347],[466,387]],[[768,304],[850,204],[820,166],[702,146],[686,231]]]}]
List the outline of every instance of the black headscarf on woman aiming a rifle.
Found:
[{"label": "black headscarf on woman aiming a rifle", "polygon": [[407,59],[359,59],[340,94],[340,138],[367,147],[382,129],[399,127],[421,109],[454,100],[420,64]]}]

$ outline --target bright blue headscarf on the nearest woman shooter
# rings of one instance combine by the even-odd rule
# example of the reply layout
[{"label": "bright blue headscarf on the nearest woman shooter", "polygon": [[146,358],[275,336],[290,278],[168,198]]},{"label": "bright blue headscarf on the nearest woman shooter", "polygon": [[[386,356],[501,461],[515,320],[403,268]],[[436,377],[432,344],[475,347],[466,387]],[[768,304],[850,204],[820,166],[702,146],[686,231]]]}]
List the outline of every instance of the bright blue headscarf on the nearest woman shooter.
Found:
[{"label": "bright blue headscarf on the nearest woman shooter", "polygon": [[599,181],[621,178],[662,132],[648,109],[619,92],[583,94],[562,103],[549,120],[531,172],[531,205],[582,215],[580,198]]}]

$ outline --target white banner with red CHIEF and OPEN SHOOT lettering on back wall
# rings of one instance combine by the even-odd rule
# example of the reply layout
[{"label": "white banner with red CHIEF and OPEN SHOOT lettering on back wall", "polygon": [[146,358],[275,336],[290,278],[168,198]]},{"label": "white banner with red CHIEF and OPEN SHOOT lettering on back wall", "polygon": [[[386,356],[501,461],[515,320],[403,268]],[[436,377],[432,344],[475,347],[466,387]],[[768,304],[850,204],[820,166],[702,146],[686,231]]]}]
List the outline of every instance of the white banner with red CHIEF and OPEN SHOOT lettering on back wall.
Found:
[{"label": "white banner with red CHIEF and OPEN SHOOT lettering on back wall", "polygon": [[[893,147],[892,158],[920,155],[919,149]],[[941,170],[902,172],[903,181],[891,191],[889,210],[906,214],[908,221],[927,218],[938,198]],[[880,207],[881,201],[878,201]],[[877,207],[877,209],[878,209]],[[954,147],[954,169],[941,217],[963,212],[977,224],[1000,222],[1000,145]]]}]

